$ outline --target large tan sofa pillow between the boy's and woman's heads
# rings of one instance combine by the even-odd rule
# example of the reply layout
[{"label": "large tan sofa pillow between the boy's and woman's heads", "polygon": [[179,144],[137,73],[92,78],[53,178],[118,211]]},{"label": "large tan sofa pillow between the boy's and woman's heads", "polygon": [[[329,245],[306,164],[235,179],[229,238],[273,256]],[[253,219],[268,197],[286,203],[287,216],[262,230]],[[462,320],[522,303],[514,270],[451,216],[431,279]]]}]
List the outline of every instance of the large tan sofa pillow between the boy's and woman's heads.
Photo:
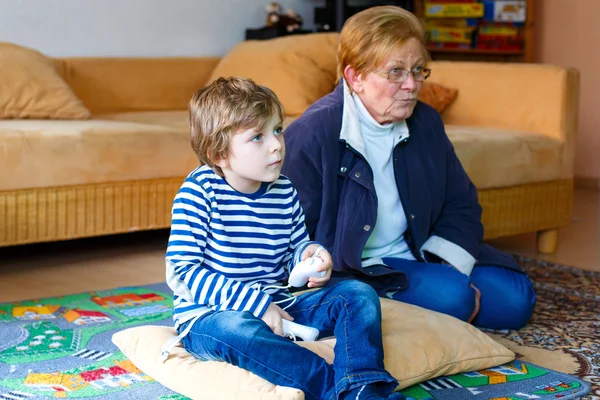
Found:
[{"label": "large tan sofa pillow between the boy's and woman's heads", "polygon": [[251,78],[277,94],[287,115],[300,115],[335,86],[338,37],[315,33],[242,42],[223,57],[208,83],[221,76]]}]

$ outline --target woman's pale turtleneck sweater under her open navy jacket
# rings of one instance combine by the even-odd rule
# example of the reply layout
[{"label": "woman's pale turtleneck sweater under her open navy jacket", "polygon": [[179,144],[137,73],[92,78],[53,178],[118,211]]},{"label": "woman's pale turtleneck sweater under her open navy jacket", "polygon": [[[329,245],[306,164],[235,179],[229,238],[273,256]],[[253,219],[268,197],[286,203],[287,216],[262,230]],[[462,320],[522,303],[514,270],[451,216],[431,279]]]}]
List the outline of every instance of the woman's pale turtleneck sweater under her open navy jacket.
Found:
[{"label": "woman's pale turtleneck sweater under her open navy jacket", "polygon": [[404,240],[408,228],[406,214],[394,178],[393,151],[408,137],[406,121],[381,125],[369,114],[358,96],[353,95],[364,141],[363,154],[373,170],[377,193],[377,222],[363,250],[363,258],[397,257],[415,260]]}]

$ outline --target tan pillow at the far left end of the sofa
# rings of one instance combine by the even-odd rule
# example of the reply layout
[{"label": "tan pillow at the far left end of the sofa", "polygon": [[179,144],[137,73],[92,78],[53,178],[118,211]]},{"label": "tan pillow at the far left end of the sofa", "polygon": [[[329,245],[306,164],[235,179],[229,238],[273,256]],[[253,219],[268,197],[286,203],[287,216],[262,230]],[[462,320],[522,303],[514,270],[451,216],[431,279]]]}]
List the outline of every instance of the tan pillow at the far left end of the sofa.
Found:
[{"label": "tan pillow at the far left end of the sofa", "polygon": [[90,112],[43,54],[0,43],[0,119],[86,119]]}]

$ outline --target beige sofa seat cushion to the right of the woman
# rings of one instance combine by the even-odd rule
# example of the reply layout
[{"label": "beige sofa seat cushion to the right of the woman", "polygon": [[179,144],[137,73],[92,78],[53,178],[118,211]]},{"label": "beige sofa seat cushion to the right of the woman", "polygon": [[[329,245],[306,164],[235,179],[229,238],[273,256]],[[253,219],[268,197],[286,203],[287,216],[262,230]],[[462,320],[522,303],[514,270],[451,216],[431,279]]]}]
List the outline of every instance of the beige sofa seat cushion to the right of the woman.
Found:
[{"label": "beige sofa seat cushion to the right of the woman", "polygon": [[475,126],[447,125],[446,133],[478,189],[568,178],[559,139]]}]

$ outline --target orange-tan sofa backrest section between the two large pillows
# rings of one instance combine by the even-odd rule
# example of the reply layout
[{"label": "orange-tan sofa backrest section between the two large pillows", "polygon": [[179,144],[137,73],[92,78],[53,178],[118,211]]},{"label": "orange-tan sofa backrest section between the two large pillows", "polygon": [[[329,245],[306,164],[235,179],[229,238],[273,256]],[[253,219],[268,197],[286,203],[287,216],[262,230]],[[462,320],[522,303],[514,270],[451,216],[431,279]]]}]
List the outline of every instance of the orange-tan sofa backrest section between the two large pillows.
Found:
[{"label": "orange-tan sofa backrest section between the two large pillows", "polygon": [[219,58],[64,58],[57,70],[93,113],[185,110]]}]

